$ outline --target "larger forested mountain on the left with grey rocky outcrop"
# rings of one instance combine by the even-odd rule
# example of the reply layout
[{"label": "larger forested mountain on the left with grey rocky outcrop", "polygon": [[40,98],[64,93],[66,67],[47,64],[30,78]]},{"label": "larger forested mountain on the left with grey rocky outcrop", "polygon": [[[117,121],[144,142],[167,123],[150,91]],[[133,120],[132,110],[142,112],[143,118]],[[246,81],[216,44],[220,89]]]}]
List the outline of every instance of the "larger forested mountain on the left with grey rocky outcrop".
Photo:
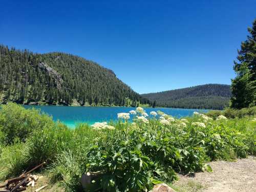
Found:
[{"label": "larger forested mountain on the left with grey rocky outcrop", "polygon": [[150,104],[96,62],[0,45],[0,102],[63,105]]}]

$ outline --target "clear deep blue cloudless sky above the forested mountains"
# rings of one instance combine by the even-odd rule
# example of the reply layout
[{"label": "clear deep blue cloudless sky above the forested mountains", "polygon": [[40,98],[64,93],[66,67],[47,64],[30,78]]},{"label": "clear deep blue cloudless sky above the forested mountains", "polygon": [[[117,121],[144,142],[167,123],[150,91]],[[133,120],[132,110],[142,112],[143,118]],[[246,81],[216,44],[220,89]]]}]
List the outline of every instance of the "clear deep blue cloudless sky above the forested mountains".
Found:
[{"label": "clear deep blue cloudless sky above the forested mountains", "polygon": [[148,93],[230,84],[256,1],[2,1],[0,18],[0,44],[72,53]]}]

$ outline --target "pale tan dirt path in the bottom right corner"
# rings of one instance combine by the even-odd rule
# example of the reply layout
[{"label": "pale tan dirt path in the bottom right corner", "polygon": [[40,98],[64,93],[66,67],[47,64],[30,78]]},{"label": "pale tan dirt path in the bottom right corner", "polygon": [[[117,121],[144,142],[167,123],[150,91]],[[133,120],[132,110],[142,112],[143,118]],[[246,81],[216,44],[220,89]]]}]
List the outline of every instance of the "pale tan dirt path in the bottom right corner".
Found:
[{"label": "pale tan dirt path in the bottom right corner", "polygon": [[195,177],[180,176],[174,186],[180,189],[178,191],[256,191],[256,157],[209,164],[213,173],[196,173]]}]

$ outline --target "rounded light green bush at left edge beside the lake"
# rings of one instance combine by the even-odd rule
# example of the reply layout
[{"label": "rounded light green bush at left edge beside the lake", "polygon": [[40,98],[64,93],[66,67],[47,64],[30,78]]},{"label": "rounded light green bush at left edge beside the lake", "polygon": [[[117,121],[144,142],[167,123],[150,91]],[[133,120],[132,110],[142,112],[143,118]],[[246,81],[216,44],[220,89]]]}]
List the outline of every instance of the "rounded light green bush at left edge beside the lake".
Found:
[{"label": "rounded light green bush at left edge beside the lake", "polygon": [[54,124],[51,117],[40,114],[39,110],[26,110],[15,103],[3,104],[0,107],[0,132],[5,135],[6,144],[13,143],[15,139],[25,141],[33,131]]}]

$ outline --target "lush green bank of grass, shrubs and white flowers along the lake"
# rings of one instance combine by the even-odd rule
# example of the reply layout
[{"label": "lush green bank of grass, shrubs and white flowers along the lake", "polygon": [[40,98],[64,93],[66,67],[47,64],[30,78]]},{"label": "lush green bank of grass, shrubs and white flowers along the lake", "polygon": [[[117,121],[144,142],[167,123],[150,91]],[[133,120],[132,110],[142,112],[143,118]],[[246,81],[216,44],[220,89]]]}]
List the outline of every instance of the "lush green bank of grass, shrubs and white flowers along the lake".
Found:
[{"label": "lush green bank of grass, shrubs and white flowers along the lake", "polygon": [[[46,161],[50,182],[66,191],[81,191],[81,175],[98,171],[88,190],[144,191],[173,182],[176,173],[210,172],[209,161],[256,154],[255,116],[144,116],[139,108],[136,115],[119,114],[116,123],[79,124],[71,130],[36,110],[2,105],[0,180]],[[126,122],[129,117],[133,123]]]}]

